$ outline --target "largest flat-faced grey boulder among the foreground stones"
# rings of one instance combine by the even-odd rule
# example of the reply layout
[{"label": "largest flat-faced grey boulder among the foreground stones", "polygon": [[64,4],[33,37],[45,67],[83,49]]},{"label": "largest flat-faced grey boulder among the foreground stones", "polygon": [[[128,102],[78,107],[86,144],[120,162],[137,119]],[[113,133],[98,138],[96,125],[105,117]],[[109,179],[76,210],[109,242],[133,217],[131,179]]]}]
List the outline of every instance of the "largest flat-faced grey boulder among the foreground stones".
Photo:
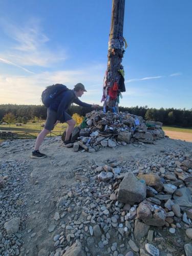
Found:
[{"label": "largest flat-faced grey boulder among the foreground stones", "polygon": [[146,198],[146,184],[134,174],[127,173],[119,185],[117,200],[122,203],[140,203]]}]

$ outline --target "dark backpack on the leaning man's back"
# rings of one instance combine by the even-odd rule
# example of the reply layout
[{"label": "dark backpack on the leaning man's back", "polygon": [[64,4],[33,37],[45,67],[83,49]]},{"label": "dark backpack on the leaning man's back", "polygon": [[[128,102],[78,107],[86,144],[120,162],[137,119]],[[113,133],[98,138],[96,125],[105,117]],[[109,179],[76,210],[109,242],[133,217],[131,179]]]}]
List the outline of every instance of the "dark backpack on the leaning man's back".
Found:
[{"label": "dark backpack on the leaning man's back", "polygon": [[48,108],[51,102],[62,92],[69,90],[66,86],[60,83],[48,86],[41,94],[42,103]]}]

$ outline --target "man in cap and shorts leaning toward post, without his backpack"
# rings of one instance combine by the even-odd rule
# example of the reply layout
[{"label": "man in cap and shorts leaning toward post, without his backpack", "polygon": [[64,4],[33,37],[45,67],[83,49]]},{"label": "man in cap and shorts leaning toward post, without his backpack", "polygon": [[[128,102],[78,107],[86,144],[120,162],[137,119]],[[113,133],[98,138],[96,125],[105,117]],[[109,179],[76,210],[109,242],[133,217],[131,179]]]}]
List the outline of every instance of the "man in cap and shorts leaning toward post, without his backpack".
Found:
[{"label": "man in cap and shorts leaning toward post, without his backpack", "polygon": [[81,97],[84,92],[87,92],[84,88],[82,83],[77,83],[73,90],[67,90],[65,92],[62,92],[60,95],[58,95],[53,102],[51,102],[48,110],[47,110],[47,120],[45,124],[45,128],[42,129],[42,131],[39,133],[34,151],[32,152],[31,158],[45,158],[47,155],[42,154],[39,152],[39,147],[44,138],[50,131],[54,129],[54,126],[61,122],[61,123],[68,123],[68,127],[66,130],[66,139],[64,144],[69,144],[70,136],[74,130],[75,121],[72,119],[72,117],[66,112],[71,103],[76,103],[80,106],[87,106],[92,108],[98,108],[99,105],[91,105],[84,103],[78,99],[78,97]]}]

